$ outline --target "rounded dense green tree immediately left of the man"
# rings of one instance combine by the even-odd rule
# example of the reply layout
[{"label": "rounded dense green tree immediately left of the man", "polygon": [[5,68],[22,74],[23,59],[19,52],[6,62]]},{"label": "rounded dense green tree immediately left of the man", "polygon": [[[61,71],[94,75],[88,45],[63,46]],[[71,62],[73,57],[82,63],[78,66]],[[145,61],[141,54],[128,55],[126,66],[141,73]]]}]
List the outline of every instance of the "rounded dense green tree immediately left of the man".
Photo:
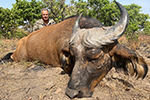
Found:
[{"label": "rounded dense green tree immediately left of the man", "polygon": [[23,29],[32,32],[33,25],[37,19],[41,18],[41,9],[44,7],[41,1],[31,0],[16,0],[13,4],[13,14],[16,22]]}]

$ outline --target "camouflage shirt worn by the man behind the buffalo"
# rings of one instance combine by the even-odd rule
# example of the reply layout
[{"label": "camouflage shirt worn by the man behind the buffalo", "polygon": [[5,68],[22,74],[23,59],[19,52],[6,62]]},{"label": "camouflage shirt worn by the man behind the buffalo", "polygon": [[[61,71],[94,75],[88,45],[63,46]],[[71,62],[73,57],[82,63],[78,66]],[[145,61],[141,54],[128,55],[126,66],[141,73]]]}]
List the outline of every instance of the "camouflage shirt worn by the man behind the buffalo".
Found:
[{"label": "camouflage shirt worn by the man behind the buffalo", "polygon": [[48,26],[48,25],[52,25],[52,24],[56,24],[56,22],[53,20],[53,19],[49,19],[49,22],[48,24],[46,25],[44,22],[43,22],[43,19],[39,19],[35,22],[34,26],[33,26],[33,31],[36,31],[42,27],[45,27],[45,26]]}]

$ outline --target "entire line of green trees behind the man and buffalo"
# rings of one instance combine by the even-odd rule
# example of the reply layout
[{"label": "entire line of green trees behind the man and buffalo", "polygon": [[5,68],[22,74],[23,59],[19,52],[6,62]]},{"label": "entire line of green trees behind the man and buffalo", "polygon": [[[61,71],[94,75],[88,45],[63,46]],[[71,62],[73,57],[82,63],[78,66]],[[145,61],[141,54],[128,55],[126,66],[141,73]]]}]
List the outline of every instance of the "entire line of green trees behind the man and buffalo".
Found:
[{"label": "entire line of green trees behind the man and buffalo", "polygon": [[[149,15],[141,13],[141,6],[124,5],[130,17],[125,35],[136,38],[140,33],[150,35]],[[79,15],[98,19],[105,26],[114,25],[120,17],[117,5],[109,0],[16,0],[12,9],[0,7],[0,38],[21,38],[32,32],[36,20],[41,18],[41,9],[48,8],[50,18],[57,23],[63,19]]]}]

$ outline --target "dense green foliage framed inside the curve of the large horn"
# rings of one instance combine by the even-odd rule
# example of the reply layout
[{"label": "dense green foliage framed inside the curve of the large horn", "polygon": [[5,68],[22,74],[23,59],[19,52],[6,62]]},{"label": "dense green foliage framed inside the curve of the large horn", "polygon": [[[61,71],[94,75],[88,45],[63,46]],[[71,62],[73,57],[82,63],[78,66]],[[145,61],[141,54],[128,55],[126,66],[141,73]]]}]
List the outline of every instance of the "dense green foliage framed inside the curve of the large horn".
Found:
[{"label": "dense green foliage framed inside the curve of the large horn", "polygon": [[88,0],[90,10],[88,16],[98,19],[106,26],[111,26],[115,23],[118,16],[118,10],[115,3],[110,3],[109,0]]}]

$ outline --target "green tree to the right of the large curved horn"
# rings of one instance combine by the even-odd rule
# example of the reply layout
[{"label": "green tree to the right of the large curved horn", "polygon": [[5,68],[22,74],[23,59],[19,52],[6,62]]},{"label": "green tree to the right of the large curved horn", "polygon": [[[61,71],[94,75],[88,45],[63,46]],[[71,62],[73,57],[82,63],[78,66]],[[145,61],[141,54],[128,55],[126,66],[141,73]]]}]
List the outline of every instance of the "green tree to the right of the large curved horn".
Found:
[{"label": "green tree to the right of the large curved horn", "polygon": [[[146,33],[150,32],[150,25],[148,19],[150,18],[148,14],[143,14],[141,12],[141,6],[136,4],[126,5],[125,8],[129,13],[129,25],[126,30],[128,39],[136,39],[138,33],[145,31]],[[143,32],[142,32],[143,33]]]}]

